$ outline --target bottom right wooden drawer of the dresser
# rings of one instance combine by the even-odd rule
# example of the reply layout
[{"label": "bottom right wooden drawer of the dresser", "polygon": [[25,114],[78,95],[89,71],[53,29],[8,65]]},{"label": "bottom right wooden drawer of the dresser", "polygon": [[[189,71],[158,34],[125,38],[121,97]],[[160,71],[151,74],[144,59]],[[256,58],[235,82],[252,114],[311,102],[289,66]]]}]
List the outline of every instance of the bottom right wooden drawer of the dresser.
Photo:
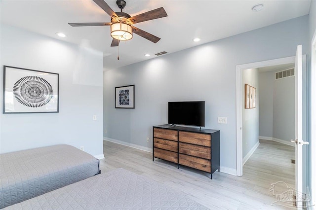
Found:
[{"label": "bottom right wooden drawer of the dresser", "polygon": [[211,173],[210,160],[179,154],[179,164]]}]

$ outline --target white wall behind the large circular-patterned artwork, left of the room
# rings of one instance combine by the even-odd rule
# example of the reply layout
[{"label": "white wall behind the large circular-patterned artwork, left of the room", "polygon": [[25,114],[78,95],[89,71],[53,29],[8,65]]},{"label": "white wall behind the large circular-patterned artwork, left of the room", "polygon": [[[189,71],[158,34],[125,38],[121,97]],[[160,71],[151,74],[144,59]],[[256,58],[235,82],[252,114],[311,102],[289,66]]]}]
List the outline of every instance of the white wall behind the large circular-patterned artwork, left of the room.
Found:
[{"label": "white wall behind the large circular-patterned artwork, left of the room", "polygon": [[102,155],[102,53],[7,25],[0,46],[1,93],[6,65],[59,73],[60,97],[59,113],[1,111],[0,153],[66,143]]}]

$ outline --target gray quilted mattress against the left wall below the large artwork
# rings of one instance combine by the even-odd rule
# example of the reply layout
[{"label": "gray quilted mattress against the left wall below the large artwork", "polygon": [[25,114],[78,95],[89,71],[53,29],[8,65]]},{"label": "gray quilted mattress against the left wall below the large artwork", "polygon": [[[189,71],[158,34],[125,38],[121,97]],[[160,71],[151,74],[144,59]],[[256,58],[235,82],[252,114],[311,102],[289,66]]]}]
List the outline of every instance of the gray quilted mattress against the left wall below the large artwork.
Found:
[{"label": "gray quilted mattress against the left wall below the large artwork", "polygon": [[98,159],[65,144],[0,154],[0,209],[98,173]]}]

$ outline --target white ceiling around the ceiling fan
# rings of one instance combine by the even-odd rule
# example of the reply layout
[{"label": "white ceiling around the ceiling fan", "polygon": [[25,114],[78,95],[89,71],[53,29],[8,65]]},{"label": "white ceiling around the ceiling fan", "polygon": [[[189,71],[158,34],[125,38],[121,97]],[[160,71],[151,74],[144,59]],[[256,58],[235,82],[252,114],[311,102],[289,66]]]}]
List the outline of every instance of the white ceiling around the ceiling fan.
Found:
[{"label": "white ceiling around the ceiling fan", "polygon": [[[105,0],[119,11],[116,0]],[[71,27],[69,22],[110,22],[110,16],[92,0],[0,0],[0,21],[42,35],[103,52],[105,70],[157,57],[155,53],[176,52],[224,37],[237,35],[278,22],[307,15],[311,0],[126,0],[124,12],[134,16],[163,7],[168,17],[135,24],[161,38],[153,43],[138,35],[110,47],[109,26]],[[264,9],[253,12],[258,3]],[[200,42],[192,39],[200,37]],[[145,57],[144,54],[151,54]]]}]

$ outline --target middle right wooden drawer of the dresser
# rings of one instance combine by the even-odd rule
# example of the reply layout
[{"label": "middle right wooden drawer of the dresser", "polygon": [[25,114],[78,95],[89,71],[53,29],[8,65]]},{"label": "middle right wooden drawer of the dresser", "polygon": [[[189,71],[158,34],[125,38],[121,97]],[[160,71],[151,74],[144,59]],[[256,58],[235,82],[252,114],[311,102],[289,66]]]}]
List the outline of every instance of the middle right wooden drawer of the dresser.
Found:
[{"label": "middle right wooden drawer of the dresser", "polygon": [[179,142],[179,152],[186,155],[211,159],[211,147]]}]

